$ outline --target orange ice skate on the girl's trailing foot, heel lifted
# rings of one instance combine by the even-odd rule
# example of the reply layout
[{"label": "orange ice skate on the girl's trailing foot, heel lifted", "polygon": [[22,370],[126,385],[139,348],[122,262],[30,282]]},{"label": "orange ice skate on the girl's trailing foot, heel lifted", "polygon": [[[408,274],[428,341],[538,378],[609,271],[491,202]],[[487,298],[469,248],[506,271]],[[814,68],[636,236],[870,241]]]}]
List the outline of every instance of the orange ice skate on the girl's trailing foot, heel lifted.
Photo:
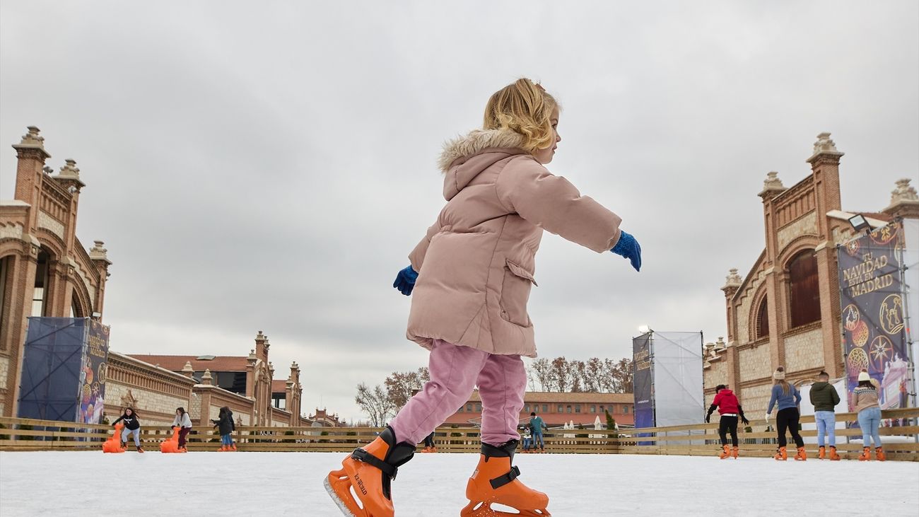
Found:
[{"label": "orange ice skate on the girl's trailing foot, heel lifted", "polygon": [[348,455],[342,468],[325,477],[325,491],[345,515],[392,517],[391,480],[413,455],[414,443],[396,443],[395,433],[387,427],[376,440]]}]

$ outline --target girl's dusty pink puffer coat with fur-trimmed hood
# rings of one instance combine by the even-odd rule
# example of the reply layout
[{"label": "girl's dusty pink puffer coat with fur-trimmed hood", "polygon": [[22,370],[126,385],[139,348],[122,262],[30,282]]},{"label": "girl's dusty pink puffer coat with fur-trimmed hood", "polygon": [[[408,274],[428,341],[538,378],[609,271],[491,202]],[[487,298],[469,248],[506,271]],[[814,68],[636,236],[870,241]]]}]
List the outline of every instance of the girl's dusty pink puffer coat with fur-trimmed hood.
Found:
[{"label": "girl's dusty pink puffer coat with fur-trimmed hood", "polygon": [[603,253],[618,215],[520,149],[516,132],[477,130],[445,146],[447,205],[409,259],[418,271],[408,339],[536,357],[527,301],[542,231]]}]

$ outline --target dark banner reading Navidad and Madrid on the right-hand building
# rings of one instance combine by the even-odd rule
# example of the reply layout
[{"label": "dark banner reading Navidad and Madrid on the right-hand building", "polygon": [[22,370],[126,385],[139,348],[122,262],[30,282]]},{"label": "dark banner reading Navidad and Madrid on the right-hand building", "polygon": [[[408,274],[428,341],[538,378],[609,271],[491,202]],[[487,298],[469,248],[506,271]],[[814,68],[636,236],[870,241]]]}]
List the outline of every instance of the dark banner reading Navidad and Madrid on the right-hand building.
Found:
[{"label": "dark banner reading Navidad and Madrid on the right-hand building", "polygon": [[903,226],[897,221],[849,241],[837,254],[848,391],[858,384],[858,373],[867,370],[879,385],[883,409],[908,404],[903,244]]}]

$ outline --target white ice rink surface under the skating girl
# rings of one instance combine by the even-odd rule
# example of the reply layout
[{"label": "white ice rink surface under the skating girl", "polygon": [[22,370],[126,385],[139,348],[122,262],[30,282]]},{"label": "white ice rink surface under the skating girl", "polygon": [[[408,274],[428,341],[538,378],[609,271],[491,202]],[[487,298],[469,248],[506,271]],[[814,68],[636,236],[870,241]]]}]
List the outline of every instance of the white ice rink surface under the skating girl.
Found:
[{"label": "white ice rink surface under the skating girl", "polygon": [[[337,517],[331,453],[0,453],[0,515]],[[396,515],[459,515],[474,454],[416,454],[393,481]],[[518,454],[556,517],[917,515],[919,464]]]}]

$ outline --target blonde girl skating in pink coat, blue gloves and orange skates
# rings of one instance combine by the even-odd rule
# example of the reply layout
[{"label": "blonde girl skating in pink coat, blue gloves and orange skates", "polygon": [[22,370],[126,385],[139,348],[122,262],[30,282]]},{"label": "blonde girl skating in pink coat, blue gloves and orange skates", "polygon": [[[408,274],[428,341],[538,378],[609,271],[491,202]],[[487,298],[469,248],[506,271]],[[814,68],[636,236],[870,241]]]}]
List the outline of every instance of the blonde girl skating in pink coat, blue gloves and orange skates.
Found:
[{"label": "blonde girl skating in pink coat, blue gloves and orange skates", "polygon": [[[440,157],[447,205],[409,256],[393,287],[413,293],[408,338],[430,350],[431,380],[373,442],[355,449],[325,487],[346,515],[391,517],[391,480],[415,443],[469,400],[482,397],[482,454],[466,486],[463,517],[548,516],[549,497],[512,466],[527,375],[536,357],[527,301],[543,230],[612,251],[641,268],[641,247],[618,215],[546,169],[559,107],[542,86],[519,79],[496,92],[481,130]],[[493,510],[493,503],[519,513]]]}]

